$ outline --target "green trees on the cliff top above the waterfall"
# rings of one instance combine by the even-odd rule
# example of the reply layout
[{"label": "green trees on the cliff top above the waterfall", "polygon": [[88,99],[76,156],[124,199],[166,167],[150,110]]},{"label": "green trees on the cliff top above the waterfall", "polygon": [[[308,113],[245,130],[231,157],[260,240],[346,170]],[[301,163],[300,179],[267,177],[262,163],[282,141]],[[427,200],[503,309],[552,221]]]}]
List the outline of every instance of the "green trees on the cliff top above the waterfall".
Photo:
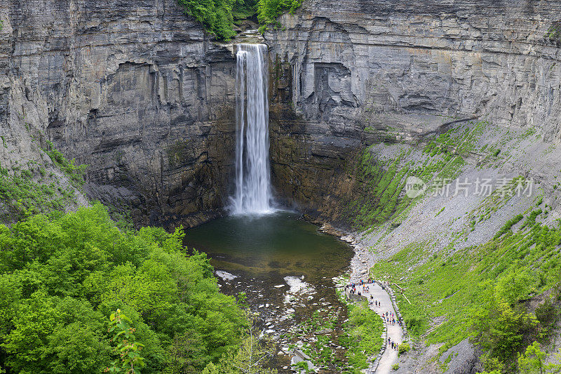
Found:
[{"label": "green trees on the cliff top above the waterfall", "polygon": [[286,11],[294,12],[302,0],[177,0],[185,11],[201,22],[217,39],[230,39],[236,35],[234,20],[257,15],[263,31],[267,25],[276,24],[276,18]]}]

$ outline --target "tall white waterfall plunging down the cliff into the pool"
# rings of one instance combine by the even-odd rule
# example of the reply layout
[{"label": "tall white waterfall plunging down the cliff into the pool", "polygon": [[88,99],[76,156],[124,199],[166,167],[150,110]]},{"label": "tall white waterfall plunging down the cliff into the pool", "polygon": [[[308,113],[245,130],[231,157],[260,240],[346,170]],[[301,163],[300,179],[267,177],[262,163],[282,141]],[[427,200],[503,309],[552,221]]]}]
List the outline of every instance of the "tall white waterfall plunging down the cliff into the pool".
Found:
[{"label": "tall white waterfall plunging down the cliff into the pool", "polygon": [[269,69],[267,46],[238,44],[236,53],[236,190],[229,211],[259,214],[271,208]]}]

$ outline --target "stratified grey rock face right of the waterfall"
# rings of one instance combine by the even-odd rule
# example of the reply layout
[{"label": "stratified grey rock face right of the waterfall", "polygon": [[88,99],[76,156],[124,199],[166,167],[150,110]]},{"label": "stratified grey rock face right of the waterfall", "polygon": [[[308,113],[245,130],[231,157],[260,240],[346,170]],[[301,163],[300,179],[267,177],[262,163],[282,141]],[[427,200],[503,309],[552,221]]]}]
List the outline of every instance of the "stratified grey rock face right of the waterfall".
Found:
[{"label": "stratified grey rock face right of the waterfall", "polygon": [[561,41],[546,37],[560,20],[553,0],[304,1],[266,34],[277,188],[313,208],[342,198],[322,171],[372,134],[417,141],[477,117],[560,140]]}]

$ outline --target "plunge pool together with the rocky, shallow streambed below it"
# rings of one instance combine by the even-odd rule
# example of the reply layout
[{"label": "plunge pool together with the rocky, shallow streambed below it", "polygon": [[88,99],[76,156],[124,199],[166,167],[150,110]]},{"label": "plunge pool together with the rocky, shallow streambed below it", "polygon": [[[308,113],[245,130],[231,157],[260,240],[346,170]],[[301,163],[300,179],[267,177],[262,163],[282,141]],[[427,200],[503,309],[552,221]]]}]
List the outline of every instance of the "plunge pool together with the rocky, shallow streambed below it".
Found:
[{"label": "plunge pool together with the rocky, shallow streambed below it", "polygon": [[185,244],[212,258],[222,292],[246,294],[276,343],[271,365],[279,373],[348,369],[348,316],[337,290],[351,270],[347,243],[281,212],[221,218],[187,231]]}]

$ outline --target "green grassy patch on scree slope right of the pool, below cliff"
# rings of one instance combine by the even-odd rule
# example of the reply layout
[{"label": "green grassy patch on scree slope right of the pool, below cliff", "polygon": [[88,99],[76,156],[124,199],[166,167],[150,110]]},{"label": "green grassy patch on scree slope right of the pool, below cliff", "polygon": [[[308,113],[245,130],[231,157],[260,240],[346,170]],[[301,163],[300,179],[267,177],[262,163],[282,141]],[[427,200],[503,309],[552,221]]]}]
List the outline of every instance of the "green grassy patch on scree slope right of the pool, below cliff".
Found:
[{"label": "green grassy patch on scree slope right of the pool, below cliff", "polygon": [[474,151],[475,140],[487,125],[478,122],[471,123],[471,128],[450,128],[426,144],[419,160],[408,159],[411,149],[398,149],[395,157],[386,160],[365,149],[356,161],[362,197],[349,203],[354,226],[373,230],[388,220],[394,227],[400,225],[407,212],[425,196],[411,198],[403,194],[407,178],[423,180],[428,194],[440,193],[464,168],[464,157]]}]

